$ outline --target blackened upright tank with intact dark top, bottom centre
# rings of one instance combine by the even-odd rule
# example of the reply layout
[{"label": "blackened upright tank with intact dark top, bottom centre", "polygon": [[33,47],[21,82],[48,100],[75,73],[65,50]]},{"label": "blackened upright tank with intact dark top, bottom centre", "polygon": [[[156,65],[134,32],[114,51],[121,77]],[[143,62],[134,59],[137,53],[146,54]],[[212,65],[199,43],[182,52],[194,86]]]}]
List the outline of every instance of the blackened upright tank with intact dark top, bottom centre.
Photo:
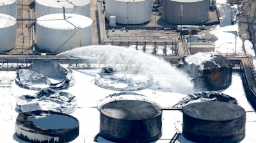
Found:
[{"label": "blackened upright tank with intact dark top, bottom centre", "polygon": [[113,142],[152,142],[161,137],[162,110],[139,101],[120,100],[100,107],[100,136]]}]

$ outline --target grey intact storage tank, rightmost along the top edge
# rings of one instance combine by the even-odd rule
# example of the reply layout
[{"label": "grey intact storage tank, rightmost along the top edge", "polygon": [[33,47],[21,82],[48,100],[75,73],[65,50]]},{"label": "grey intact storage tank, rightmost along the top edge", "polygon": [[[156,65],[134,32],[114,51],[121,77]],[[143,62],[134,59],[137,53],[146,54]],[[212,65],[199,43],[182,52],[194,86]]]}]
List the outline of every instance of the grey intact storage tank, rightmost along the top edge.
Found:
[{"label": "grey intact storage tank, rightmost along the top edge", "polygon": [[172,24],[202,24],[209,19],[209,0],[163,0],[161,18]]}]

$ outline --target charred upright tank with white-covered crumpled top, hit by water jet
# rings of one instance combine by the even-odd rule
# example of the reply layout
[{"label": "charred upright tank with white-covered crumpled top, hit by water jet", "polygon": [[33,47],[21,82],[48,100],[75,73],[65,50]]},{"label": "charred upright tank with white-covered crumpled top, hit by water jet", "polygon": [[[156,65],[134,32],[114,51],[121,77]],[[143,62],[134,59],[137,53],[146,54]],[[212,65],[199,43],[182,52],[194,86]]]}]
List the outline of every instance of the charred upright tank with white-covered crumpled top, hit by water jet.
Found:
[{"label": "charred upright tank with white-covered crumpled top, hit by water jet", "polygon": [[216,91],[227,88],[232,82],[230,61],[215,52],[198,52],[183,57],[178,67],[189,74],[198,89]]}]

